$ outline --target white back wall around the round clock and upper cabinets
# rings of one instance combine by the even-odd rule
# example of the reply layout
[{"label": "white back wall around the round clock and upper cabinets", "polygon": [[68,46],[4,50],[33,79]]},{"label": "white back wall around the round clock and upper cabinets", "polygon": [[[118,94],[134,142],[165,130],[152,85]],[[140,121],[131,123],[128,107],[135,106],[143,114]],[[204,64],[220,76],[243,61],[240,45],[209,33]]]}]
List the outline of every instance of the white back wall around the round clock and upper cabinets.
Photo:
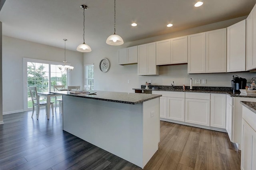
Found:
[{"label": "white back wall around the round clock and upper cabinets", "polygon": [[[196,86],[225,86],[231,87],[232,75],[236,74],[243,78],[246,78],[248,82],[252,77],[256,77],[256,73],[218,73],[218,74],[188,74],[187,64],[174,65],[174,66],[160,66],[160,75],[158,76],[138,76],[137,64],[120,66],[118,65],[118,49],[129,46],[135,46],[140,44],[146,44],[149,42],[156,42],[159,40],[165,40],[169,38],[185,36],[190,34],[196,34],[199,32],[205,32],[210,30],[216,30],[220,28],[226,28],[236,22],[239,22],[245,17],[235,18],[232,20],[222,21],[214,24],[208,24],[188,30],[181,30],[171,34],[165,34],[144,40],[138,40],[134,42],[125,43],[122,46],[109,46],[105,45],[100,49],[92,49],[92,52],[84,54],[84,64],[94,63],[94,90],[106,90],[106,91],[118,91],[118,92],[134,92],[132,88],[140,88],[141,84],[152,80],[152,84],[155,85],[170,85],[172,81],[176,86],[186,86],[190,83],[190,78],[206,79],[207,84],[197,84]],[[122,35],[120,35],[122,36]],[[88,42],[89,43],[89,42]],[[99,70],[99,62],[102,58],[108,58],[110,60],[110,70],[106,73],[102,73]],[[128,83],[130,80],[130,83]]]}]

